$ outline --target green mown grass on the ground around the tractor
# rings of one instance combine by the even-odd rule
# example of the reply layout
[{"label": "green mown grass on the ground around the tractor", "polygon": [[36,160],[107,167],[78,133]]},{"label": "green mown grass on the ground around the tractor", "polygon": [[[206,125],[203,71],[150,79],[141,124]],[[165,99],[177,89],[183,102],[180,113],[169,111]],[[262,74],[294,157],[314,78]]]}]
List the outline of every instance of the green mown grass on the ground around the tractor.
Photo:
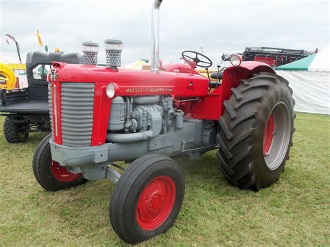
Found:
[{"label": "green mown grass on the ground around the tractor", "polygon": [[[0,118],[2,132],[3,118]],[[186,176],[178,219],[143,245],[330,245],[330,117],[298,113],[294,146],[281,179],[258,193],[230,186],[215,152],[177,159]],[[0,137],[0,245],[125,245],[108,207],[113,184],[92,181],[47,192],[33,177],[34,149]]]}]

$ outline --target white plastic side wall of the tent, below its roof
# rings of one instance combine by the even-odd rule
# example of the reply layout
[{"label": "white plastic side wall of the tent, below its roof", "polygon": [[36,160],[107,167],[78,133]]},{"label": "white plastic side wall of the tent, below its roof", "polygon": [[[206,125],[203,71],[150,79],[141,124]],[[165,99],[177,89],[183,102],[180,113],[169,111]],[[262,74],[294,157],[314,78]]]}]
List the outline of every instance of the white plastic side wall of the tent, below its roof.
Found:
[{"label": "white plastic side wall of the tent, below its roof", "polygon": [[329,71],[288,71],[277,70],[289,81],[296,101],[294,111],[330,114]]}]

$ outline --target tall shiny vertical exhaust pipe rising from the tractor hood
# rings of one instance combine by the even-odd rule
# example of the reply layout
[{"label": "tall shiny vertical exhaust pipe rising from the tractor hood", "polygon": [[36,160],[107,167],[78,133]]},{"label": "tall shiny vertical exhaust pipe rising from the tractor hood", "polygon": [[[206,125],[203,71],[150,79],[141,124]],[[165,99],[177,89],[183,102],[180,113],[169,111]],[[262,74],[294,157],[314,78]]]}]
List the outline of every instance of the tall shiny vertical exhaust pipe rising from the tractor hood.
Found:
[{"label": "tall shiny vertical exhaust pipe rising from the tractor hood", "polygon": [[159,8],[163,0],[155,0],[151,13],[151,72],[159,73]]}]

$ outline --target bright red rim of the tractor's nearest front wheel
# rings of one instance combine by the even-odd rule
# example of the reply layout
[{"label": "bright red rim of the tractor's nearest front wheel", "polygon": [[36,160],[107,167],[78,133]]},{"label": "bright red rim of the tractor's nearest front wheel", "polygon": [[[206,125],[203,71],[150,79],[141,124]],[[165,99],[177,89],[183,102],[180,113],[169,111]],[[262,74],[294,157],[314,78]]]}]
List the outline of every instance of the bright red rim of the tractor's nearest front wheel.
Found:
[{"label": "bright red rim of the tractor's nearest front wheel", "polygon": [[166,221],[175,202],[176,189],[171,177],[159,176],[142,191],[136,207],[136,220],[144,230],[154,230]]}]

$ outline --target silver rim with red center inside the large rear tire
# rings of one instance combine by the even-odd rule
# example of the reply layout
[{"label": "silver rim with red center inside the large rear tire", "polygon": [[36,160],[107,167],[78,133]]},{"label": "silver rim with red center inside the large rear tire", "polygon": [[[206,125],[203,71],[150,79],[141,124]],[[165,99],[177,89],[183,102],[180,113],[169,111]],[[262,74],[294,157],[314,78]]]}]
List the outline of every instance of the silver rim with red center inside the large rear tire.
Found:
[{"label": "silver rim with red center inside the large rear tire", "polygon": [[288,106],[278,102],[269,114],[263,136],[263,154],[267,168],[281,166],[290,143],[291,122]]}]

